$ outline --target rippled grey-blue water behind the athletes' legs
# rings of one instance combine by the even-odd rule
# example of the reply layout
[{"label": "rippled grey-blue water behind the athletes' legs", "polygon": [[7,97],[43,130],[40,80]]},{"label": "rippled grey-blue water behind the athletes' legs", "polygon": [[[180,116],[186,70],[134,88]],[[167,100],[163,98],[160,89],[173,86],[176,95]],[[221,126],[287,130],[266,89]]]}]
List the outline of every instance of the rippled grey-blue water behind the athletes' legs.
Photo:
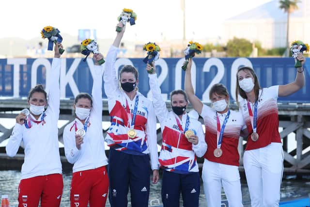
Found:
[{"label": "rippled grey-blue water behind the athletes' legs", "polygon": [[[62,194],[62,202],[61,207],[69,207],[70,206],[70,184],[72,173],[65,173],[62,175],[63,177],[63,194]],[[285,200],[288,198],[297,198],[308,196],[310,193],[310,176],[304,176],[303,179],[297,180],[295,176],[287,176],[287,179],[282,180],[281,185],[281,200]],[[8,194],[11,206],[18,205],[17,203],[17,189],[20,181],[20,171],[0,171],[0,195]],[[250,207],[249,202],[249,194],[248,194],[248,186],[246,180],[241,180],[241,188],[243,195],[243,203],[244,207]],[[150,199],[155,200],[159,199],[161,202],[161,179],[158,184],[152,184],[150,186]],[[222,191],[224,194],[224,191]],[[225,196],[222,195],[222,199],[225,199]],[[130,196],[128,195],[128,200],[130,200]],[[155,204],[156,202],[154,202]],[[182,201],[181,201],[182,204]],[[110,207],[109,201],[107,201],[107,207]],[[150,206],[150,205],[149,205]],[[205,197],[203,186],[201,182],[201,193],[200,193],[200,206],[205,207]],[[131,207],[130,203],[128,207]]]}]

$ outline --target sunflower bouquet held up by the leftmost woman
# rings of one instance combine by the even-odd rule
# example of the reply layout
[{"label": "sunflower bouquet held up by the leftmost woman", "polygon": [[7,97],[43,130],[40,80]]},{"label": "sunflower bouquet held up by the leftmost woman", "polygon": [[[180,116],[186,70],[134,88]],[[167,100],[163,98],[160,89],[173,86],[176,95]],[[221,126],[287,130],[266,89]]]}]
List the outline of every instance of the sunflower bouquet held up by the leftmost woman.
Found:
[{"label": "sunflower bouquet held up by the leftmost woman", "polygon": [[[53,44],[57,42],[62,42],[62,36],[60,35],[60,31],[51,26],[47,26],[43,28],[41,31],[41,36],[43,39],[47,38],[48,39],[48,46],[47,50],[53,50]],[[59,53],[62,54],[64,52],[64,49],[59,48]]]}]

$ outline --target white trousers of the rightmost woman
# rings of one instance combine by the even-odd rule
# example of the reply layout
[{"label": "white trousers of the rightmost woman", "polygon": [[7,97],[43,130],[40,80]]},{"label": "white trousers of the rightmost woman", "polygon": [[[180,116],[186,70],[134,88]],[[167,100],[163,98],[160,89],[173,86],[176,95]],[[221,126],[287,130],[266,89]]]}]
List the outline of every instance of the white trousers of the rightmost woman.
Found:
[{"label": "white trousers of the rightmost woman", "polygon": [[251,207],[279,207],[283,174],[281,143],[247,150],[243,156]]}]

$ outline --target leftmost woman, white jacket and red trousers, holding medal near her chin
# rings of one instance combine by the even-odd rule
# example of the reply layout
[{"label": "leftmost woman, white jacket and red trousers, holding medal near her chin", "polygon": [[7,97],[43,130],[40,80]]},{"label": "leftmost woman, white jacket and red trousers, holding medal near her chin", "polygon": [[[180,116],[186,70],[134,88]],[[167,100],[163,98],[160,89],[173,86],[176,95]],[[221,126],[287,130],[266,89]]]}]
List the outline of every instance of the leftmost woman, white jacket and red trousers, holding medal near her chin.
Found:
[{"label": "leftmost woman, white jacket and red trousers, holding medal near her chin", "polygon": [[51,68],[47,68],[50,70],[47,77],[48,94],[42,85],[31,89],[28,96],[30,113],[26,114],[26,110],[16,116],[16,125],[5,147],[10,157],[16,155],[21,142],[25,147],[25,161],[18,187],[18,207],[37,207],[40,200],[41,207],[60,206],[63,182],[57,127],[60,108],[59,48],[62,48],[61,43],[55,45]]}]

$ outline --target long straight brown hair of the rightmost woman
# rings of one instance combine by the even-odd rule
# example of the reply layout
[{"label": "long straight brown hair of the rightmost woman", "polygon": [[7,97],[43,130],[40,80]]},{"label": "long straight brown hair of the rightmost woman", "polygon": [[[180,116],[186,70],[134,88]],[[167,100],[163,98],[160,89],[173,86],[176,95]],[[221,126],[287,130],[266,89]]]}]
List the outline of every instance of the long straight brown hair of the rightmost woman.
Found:
[{"label": "long straight brown hair of the rightmost woman", "polygon": [[243,97],[244,99],[247,99],[248,96],[246,94],[246,92],[244,90],[241,89],[240,85],[239,85],[239,79],[238,79],[238,73],[243,70],[244,72],[246,72],[246,70],[248,70],[252,76],[254,77],[254,93],[255,93],[255,100],[258,100],[258,95],[261,89],[260,83],[258,82],[258,78],[256,76],[255,71],[253,70],[253,68],[251,67],[240,67],[237,71],[236,74],[236,102],[237,105],[239,106],[239,101],[238,101],[238,94],[240,94],[241,97]]}]

